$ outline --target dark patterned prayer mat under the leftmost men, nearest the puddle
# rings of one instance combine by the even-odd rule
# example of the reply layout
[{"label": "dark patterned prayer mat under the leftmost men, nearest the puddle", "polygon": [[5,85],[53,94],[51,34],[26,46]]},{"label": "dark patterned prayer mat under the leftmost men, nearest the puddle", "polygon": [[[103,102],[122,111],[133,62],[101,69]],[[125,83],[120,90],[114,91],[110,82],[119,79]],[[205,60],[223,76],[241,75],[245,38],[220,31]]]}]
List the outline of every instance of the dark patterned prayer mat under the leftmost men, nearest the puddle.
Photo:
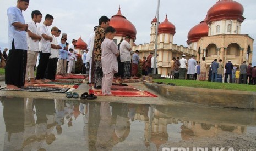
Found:
[{"label": "dark patterned prayer mat under the leftmost men, nearest the puddle", "polygon": [[37,87],[37,86],[27,86],[20,89],[7,89],[6,87],[0,90],[9,91],[30,91],[30,92],[53,92],[53,93],[65,93],[69,88],[49,88],[49,87]]}]

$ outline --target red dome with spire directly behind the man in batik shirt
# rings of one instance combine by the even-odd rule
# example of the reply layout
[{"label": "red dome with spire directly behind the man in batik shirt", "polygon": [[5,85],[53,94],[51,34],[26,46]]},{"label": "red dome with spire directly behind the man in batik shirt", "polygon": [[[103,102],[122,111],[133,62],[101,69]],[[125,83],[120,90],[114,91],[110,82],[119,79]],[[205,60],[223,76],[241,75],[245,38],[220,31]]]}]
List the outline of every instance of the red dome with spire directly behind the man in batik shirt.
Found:
[{"label": "red dome with spire directly behind the man in batik shirt", "polygon": [[132,22],[127,20],[126,17],[124,17],[121,14],[120,8],[119,8],[117,14],[112,16],[112,18],[110,19],[110,26],[112,26],[116,29],[116,36],[124,37],[124,36],[129,35],[135,41],[136,33],[137,33],[136,28],[132,24]]}]

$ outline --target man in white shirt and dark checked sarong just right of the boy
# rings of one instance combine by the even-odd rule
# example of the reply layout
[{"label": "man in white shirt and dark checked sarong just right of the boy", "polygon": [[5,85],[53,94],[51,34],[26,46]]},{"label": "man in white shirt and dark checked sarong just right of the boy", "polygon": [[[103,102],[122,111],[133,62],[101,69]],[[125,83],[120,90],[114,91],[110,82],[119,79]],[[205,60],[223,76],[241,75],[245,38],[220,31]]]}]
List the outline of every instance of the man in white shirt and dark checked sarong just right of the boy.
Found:
[{"label": "man in white shirt and dark checked sarong just right of the boy", "polygon": [[130,51],[132,50],[132,47],[130,46],[130,39],[132,39],[132,37],[126,36],[120,44],[120,60],[124,64],[123,75],[127,79],[130,79]]}]

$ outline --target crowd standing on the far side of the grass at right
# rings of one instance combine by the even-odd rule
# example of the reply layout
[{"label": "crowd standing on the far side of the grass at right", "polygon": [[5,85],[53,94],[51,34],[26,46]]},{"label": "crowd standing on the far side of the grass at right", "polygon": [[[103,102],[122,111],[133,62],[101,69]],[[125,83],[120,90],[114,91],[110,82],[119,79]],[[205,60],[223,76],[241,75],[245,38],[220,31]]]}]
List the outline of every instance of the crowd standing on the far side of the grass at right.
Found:
[{"label": "crowd standing on the far side of the grass at right", "polygon": [[214,59],[209,69],[207,69],[208,65],[205,62],[205,57],[202,58],[202,61],[198,62],[194,59],[194,56],[188,61],[185,59],[185,56],[182,55],[182,59],[173,57],[170,61],[170,79],[185,79],[187,71],[186,79],[188,80],[256,84],[256,66],[252,67],[252,63],[247,65],[246,61],[243,61],[241,65],[236,66],[233,65],[231,60],[228,60],[224,65],[221,59],[219,62],[217,62],[217,59]]}]

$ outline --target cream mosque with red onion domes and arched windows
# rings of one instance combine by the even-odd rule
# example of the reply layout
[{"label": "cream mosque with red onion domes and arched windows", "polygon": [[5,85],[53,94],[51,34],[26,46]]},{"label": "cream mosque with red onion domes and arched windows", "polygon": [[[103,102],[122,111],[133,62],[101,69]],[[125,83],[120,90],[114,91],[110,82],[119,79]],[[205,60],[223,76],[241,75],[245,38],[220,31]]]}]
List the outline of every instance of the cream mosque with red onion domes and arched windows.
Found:
[{"label": "cream mosque with red onion domes and arched windows", "polygon": [[[165,20],[159,24],[158,28],[158,73],[168,75],[172,57],[181,58],[183,54],[186,55],[187,60],[192,55],[197,57],[197,61],[201,61],[201,58],[205,57],[208,66],[214,59],[222,59],[224,63],[231,60],[237,67],[243,61],[246,61],[247,64],[252,63],[254,39],[248,34],[241,34],[241,25],[245,19],[243,10],[242,4],[236,1],[217,1],[206,12],[205,19],[188,32],[188,47],[173,44],[176,28],[166,15]],[[137,30],[132,22],[122,15],[120,8],[110,20],[110,26],[116,29],[114,42],[118,44],[125,36],[131,36],[130,45],[133,51],[139,50],[140,59],[143,59],[143,56],[148,56],[150,52],[155,53],[156,24],[155,17],[151,21],[150,42],[136,45],[134,42]],[[83,53],[85,45],[87,44],[79,38],[77,48],[80,48],[80,54]]]}]

